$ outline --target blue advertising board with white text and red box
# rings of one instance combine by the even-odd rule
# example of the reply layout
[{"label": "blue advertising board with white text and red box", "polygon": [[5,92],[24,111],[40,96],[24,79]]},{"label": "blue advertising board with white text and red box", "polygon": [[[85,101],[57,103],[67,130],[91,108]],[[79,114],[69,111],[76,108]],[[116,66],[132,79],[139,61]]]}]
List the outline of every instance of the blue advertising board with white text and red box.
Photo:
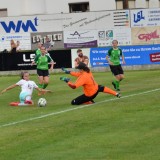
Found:
[{"label": "blue advertising board with white text and red box", "polygon": [[[121,46],[126,65],[160,64],[160,45]],[[92,67],[108,66],[106,55],[110,47],[91,48],[90,63]]]}]

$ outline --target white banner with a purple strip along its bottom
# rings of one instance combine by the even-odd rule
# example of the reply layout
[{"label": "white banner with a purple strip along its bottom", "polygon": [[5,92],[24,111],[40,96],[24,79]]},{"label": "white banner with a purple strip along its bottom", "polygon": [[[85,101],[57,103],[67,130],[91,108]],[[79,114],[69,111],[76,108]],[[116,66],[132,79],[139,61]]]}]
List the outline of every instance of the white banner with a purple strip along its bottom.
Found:
[{"label": "white banner with a purple strip along its bottom", "polygon": [[97,33],[96,30],[64,31],[64,47],[65,48],[97,47],[96,33]]}]

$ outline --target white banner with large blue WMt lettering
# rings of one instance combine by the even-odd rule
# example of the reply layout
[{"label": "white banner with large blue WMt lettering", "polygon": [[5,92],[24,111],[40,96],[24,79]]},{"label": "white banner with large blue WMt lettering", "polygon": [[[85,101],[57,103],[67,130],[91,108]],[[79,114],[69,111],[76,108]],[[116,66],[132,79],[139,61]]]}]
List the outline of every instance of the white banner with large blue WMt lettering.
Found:
[{"label": "white banner with large blue WMt lettering", "polygon": [[62,31],[61,14],[4,17],[0,21],[1,34]]}]

